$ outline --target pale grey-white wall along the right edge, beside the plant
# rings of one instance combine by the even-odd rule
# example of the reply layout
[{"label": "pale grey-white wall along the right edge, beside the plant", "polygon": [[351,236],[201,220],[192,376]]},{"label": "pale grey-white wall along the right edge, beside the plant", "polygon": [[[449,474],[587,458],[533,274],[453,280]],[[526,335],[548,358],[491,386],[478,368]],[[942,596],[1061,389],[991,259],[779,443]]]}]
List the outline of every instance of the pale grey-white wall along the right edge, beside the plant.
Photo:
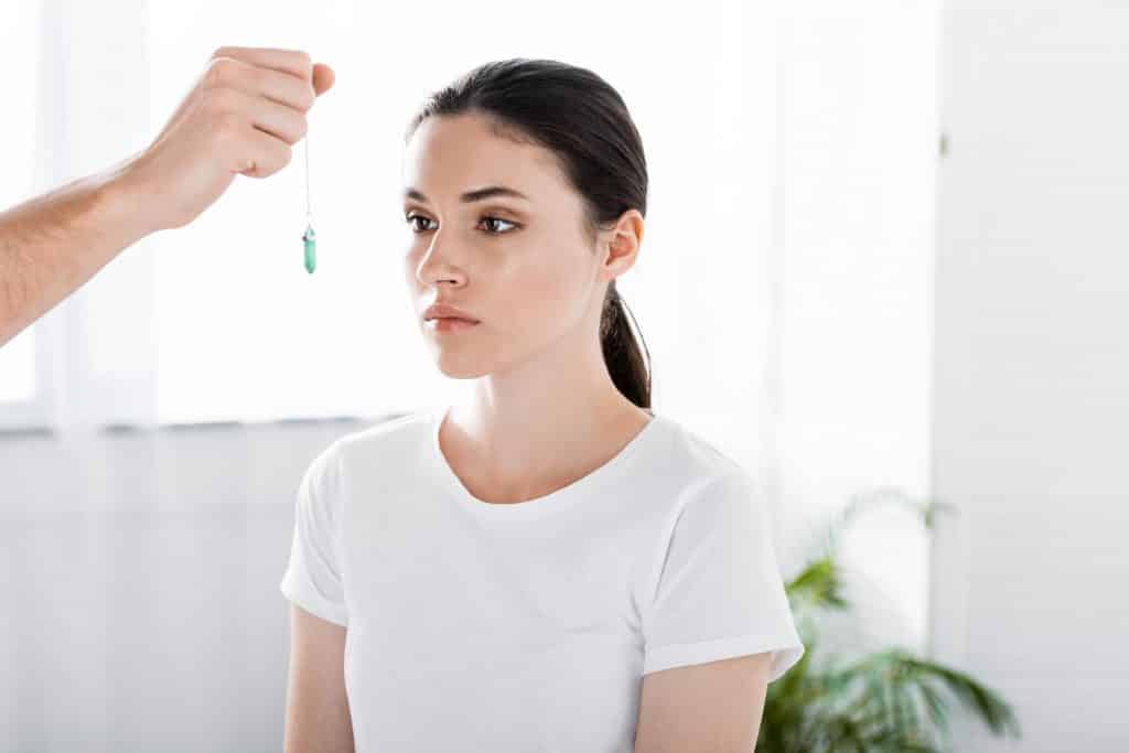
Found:
[{"label": "pale grey-white wall along the right edge, beside the plant", "polygon": [[1006,750],[1126,751],[1129,7],[949,1],[944,37],[935,648]]}]

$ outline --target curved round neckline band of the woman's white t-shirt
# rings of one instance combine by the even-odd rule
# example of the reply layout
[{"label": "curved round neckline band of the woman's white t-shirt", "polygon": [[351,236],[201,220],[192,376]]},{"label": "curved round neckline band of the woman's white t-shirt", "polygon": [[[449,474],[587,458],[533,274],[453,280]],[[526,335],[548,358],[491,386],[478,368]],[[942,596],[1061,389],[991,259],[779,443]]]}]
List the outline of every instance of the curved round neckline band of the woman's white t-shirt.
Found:
[{"label": "curved round neckline band of the woman's white t-shirt", "polygon": [[475,515],[490,518],[532,518],[555,513],[570,507],[581,498],[590,496],[603,489],[609,482],[621,476],[641,450],[656,435],[659,434],[666,423],[666,418],[651,411],[651,418],[640,429],[631,440],[620,449],[606,463],[598,466],[587,475],[580,476],[572,483],[551,491],[541,497],[534,497],[520,502],[488,502],[479,499],[463,484],[458,475],[450,467],[446,456],[439,447],[439,428],[450,411],[450,405],[439,405],[430,411],[428,418],[428,435],[431,456],[437,466],[439,479],[448,488],[461,507],[466,508]]}]

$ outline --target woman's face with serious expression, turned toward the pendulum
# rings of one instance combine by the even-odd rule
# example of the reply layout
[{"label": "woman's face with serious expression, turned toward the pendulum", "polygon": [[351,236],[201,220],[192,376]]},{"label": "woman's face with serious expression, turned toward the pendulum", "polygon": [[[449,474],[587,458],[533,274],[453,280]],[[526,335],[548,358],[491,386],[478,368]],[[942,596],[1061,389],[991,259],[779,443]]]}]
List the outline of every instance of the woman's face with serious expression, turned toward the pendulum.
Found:
[{"label": "woman's face with serious expression, turned toward the pendulum", "polygon": [[[480,115],[432,116],[408,143],[403,180],[406,280],[444,374],[499,371],[569,335],[598,343],[614,273],[602,273],[604,255],[583,233],[580,196],[551,152],[492,133]],[[463,196],[496,186],[524,198]],[[423,309],[437,301],[479,324],[435,330]]]}]

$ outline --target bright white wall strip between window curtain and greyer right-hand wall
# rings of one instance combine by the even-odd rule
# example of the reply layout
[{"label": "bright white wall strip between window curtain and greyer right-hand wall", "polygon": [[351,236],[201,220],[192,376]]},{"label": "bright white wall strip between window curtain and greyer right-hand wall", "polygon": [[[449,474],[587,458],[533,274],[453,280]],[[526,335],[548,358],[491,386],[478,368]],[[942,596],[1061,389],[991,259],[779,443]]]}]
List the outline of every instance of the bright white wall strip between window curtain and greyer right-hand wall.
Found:
[{"label": "bright white wall strip between window curtain and greyer right-hand wall", "polygon": [[[854,494],[928,492],[940,8],[803,0],[781,10],[764,472],[795,572],[813,554],[813,523]],[[852,610],[828,615],[824,645],[925,651],[920,519],[865,520],[840,551]]]}]

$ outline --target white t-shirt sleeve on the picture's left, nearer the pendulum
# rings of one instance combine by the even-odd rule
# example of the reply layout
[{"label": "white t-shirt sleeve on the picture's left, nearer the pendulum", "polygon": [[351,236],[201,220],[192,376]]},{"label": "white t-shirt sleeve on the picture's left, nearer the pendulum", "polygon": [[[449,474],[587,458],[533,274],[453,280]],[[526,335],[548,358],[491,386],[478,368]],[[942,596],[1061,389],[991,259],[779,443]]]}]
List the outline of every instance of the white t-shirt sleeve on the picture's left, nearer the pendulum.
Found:
[{"label": "white t-shirt sleeve on the picture's left, nearer the pendulum", "polygon": [[314,458],[298,484],[290,561],[279,588],[307,612],[347,627],[349,613],[338,536],[341,491],[334,444]]}]

